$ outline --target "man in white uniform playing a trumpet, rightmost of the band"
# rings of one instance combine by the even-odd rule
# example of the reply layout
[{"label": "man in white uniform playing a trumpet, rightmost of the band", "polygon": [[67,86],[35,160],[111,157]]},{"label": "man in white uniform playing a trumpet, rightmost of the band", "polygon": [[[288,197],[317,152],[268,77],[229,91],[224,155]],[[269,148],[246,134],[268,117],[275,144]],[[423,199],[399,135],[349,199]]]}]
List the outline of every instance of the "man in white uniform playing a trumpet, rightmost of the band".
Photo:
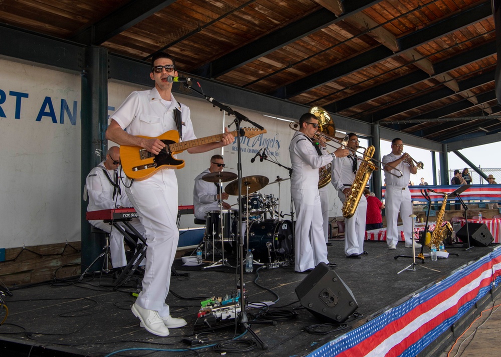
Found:
[{"label": "man in white uniform playing a trumpet, rightmost of the band", "polygon": [[[385,206],[386,206],[386,243],[388,249],[396,249],[398,242],[398,212],[404,227],[405,246],[412,248],[412,199],[407,183],[410,174],[417,172],[414,160],[408,153],[403,152],[404,144],[399,137],[391,141],[391,152],[384,155],[381,162],[384,166],[386,182]],[[401,177],[394,176],[389,172],[398,168],[402,172]],[[421,244],[416,243],[416,248]]]}]

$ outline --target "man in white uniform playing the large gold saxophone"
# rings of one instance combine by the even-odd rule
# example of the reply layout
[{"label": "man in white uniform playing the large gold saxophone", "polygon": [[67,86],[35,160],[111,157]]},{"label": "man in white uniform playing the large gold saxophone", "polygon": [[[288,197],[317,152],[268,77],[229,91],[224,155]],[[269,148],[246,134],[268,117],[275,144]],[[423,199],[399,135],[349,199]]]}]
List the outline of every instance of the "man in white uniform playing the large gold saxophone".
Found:
[{"label": "man in white uniform playing the large gold saxophone", "polygon": [[[338,191],[341,202],[347,199],[351,193],[351,185],[355,180],[358,168],[356,151],[359,148],[358,136],[353,132],[349,134],[347,148],[352,156],[341,157],[332,163],[331,183]],[[365,220],[367,213],[367,198],[364,195],[360,198],[355,214],[350,218],[345,218],[345,254],[347,258],[360,258],[366,255],[364,250]]]}]

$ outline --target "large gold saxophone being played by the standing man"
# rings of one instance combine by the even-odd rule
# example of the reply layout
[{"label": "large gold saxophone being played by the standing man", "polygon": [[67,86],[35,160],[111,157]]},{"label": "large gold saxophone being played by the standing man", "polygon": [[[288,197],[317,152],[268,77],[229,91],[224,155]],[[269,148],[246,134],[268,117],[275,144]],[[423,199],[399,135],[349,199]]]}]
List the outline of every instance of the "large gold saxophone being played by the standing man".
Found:
[{"label": "large gold saxophone being played by the standing man", "polygon": [[362,194],[364,193],[365,185],[369,180],[369,177],[372,174],[372,171],[377,171],[377,167],[373,162],[370,161],[375,151],[374,146],[369,146],[365,149],[364,158],[361,161],[362,163],[358,167],[357,173],[355,174],[355,179],[350,187],[350,193],[346,196],[346,199],[343,203],[343,208],[341,208],[343,212],[343,217],[351,218],[358,207],[358,202],[360,202],[360,198],[362,198]]}]

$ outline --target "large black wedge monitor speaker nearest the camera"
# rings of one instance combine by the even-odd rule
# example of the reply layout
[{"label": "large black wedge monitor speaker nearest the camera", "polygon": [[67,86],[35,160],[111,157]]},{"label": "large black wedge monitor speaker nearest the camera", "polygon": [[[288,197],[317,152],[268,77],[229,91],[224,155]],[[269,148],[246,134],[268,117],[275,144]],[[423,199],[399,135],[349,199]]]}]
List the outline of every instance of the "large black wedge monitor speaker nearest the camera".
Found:
[{"label": "large black wedge monitor speaker nearest the camera", "polygon": [[350,288],[331,270],[320,263],[296,287],[301,305],[323,321],[343,322],[358,308]]}]

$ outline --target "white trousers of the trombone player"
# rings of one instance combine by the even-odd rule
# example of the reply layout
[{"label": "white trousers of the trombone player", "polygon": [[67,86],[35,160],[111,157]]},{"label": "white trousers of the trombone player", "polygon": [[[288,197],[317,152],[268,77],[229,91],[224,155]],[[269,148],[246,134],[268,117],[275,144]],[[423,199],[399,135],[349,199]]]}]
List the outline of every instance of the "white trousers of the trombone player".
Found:
[{"label": "white trousers of the trombone player", "polygon": [[297,218],[294,227],[295,270],[314,268],[321,261],[328,263],[318,188],[291,189],[291,195]]}]

